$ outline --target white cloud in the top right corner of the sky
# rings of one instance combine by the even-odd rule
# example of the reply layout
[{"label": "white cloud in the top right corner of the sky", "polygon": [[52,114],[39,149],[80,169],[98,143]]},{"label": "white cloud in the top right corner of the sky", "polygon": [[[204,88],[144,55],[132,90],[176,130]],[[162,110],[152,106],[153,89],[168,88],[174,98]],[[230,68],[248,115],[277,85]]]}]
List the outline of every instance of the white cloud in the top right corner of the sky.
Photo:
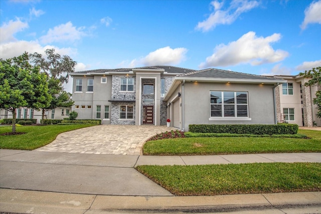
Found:
[{"label": "white cloud in the top right corner of the sky", "polygon": [[321,1],[312,2],[309,7],[304,10],[304,15],[304,21],[300,25],[302,30],[310,23],[321,24]]}]

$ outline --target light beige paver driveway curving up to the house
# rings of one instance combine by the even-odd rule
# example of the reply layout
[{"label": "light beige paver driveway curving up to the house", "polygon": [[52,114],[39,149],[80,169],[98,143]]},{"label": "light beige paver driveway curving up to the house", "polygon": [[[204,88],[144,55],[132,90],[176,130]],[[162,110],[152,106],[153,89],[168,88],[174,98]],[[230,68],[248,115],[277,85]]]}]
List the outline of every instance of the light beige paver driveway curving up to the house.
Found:
[{"label": "light beige paver driveway curving up to the house", "polygon": [[50,144],[36,151],[89,154],[139,155],[145,140],[165,131],[166,126],[99,125],[61,133]]}]

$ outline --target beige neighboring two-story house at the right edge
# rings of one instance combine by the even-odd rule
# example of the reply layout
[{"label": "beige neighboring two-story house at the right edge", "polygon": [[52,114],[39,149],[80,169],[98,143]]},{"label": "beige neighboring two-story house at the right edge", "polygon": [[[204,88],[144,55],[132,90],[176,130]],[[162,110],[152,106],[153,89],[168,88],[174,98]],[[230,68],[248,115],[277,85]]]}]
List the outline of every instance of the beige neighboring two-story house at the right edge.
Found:
[{"label": "beige neighboring two-story house at the right edge", "polygon": [[304,86],[308,79],[302,76],[274,76],[287,80],[276,88],[276,109],[279,122],[295,123],[299,126],[321,126],[321,119],[316,117],[313,104],[315,92],[321,86]]}]

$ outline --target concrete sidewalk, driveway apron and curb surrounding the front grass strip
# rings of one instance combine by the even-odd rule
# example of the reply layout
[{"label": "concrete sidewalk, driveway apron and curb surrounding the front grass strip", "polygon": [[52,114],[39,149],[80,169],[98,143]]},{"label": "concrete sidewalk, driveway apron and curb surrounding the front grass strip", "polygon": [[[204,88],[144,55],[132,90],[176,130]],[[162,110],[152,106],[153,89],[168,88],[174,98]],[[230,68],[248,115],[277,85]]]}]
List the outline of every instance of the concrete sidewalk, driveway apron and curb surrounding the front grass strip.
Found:
[{"label": "concrete sidewalk, driveway apron and curb surrounding the front grass strip", "polygon": [[[321,162],[320,153],[139,156],[0,150],[0,211],[106,213],[267,209],[321,212],[321,193],[178,197],[133,167],[145,164]],[[254,212],[253,212],[254,213]],[[295,213],[295,212],[292,212]],[[303,212],[296,212],[303,213]]]}]

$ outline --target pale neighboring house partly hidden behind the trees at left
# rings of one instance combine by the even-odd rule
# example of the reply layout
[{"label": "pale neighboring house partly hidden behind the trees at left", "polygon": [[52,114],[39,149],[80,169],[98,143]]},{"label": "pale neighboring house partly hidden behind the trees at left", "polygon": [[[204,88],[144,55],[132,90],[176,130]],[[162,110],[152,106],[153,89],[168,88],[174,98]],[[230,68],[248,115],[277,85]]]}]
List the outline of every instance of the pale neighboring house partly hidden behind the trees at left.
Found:
[{"label": "pale neighboring house partly hidden behind the trees at left", "polygon": [[[55,108],[45,112],[45,119],[63,119],[69,117],[71,107],[69,108]],[[37,119],[37,123],[40,123],[42,112],[30,108],[19,108],[16,111],[16,118],[21,119]],[[12,118],[12,112],[5,109],[0,110],[0,119]]]}]

